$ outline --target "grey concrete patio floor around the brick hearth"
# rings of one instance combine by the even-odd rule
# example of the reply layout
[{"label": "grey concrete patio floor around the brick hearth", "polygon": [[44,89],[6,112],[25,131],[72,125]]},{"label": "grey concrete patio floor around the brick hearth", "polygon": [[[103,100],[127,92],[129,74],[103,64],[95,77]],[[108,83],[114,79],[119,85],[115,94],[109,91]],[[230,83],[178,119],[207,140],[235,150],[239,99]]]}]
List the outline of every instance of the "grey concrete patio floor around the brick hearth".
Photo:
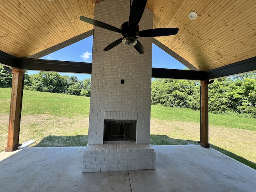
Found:
[{"label": "grey concrete patio floor around the brick hearth", "polygon": [[254,192],[256,170],[196,145],[154,146],[156,170],[82,173],[84,147],[0,153],[3,192]]}]

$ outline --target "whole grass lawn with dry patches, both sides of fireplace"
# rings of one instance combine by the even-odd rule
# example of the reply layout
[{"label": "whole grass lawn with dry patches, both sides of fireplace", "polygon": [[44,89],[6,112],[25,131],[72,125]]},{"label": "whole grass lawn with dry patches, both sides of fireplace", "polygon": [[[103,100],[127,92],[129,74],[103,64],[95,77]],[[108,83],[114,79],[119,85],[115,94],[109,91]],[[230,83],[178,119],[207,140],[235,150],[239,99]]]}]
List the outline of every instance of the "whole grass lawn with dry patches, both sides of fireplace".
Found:
[{"label": "whole grass lawn with dry patches, both sides of fireplace", "polygon": [[[8,132],[10,88],[0,88],[0,151]],[[34,146],[86,146],[90,98],[24,90],[20,143]],[[151,106],[151,144],[198,144],[200,111]],[[209,139],[219,150],[256,169],[256,118],[209,114]]]}]

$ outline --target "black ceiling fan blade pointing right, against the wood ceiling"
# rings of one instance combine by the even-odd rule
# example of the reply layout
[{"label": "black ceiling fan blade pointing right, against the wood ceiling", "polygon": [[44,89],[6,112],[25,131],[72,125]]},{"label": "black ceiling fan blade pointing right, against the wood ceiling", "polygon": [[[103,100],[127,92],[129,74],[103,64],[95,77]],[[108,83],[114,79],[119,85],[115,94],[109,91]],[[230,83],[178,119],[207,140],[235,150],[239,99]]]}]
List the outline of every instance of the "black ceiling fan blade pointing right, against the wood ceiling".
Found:
[{"label": "black ceiling fan blade pointing right, against the wood ceiling", "polygon": [[178,28],[156,28],[139,31],[140,37],[160,37],[168,35],[176,35],[178,33]]}]

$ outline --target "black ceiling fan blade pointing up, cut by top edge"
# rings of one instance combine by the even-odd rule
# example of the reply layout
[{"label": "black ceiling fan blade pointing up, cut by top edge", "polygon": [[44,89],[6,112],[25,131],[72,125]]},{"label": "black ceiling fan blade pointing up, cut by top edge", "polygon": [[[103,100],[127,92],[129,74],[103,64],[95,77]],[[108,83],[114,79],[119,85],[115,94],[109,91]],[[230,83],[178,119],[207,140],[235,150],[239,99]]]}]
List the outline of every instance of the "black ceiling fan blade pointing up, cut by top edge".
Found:
[{"label": "black ceiling fan blade pointing up, cut by top edge", "polygon": [[130,8],[129,31],[134,32],[146,7],[147,0],[133,0]]}]

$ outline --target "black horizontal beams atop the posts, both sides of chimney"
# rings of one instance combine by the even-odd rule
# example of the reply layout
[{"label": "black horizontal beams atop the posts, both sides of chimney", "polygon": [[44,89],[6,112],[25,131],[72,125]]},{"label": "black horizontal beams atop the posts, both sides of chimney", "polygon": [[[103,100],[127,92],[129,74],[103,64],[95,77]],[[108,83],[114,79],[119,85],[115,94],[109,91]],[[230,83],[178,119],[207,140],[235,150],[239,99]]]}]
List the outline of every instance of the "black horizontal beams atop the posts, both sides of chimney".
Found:
[{"label": "black horizontal beams atop the posts, both sides of chimney", "polygon": [[[91,63],[17,58],[6,52],[2,52],[1,50],[0,64],[10,68],[20,68],[24,70],[69,72],[81,74],[92,73]],[[252,71],[256,71],[256,56],[206,72],[196,70],[152,68],[152,78],[211,80]]]}]

